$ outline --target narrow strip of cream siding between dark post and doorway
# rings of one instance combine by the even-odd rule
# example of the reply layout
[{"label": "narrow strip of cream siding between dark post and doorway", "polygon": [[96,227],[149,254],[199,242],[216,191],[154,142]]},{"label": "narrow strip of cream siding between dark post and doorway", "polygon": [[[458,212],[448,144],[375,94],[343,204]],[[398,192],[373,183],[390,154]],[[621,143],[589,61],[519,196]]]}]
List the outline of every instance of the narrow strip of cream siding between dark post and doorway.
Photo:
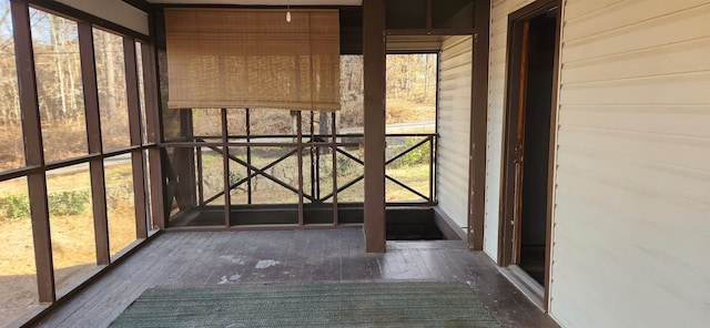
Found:
[{"label": "narrow strip of cream siding between dark post and doorway", "polygon": [[498,0],[490,10],[490,58],[488,71],[488,141],[486,145],[486,219],[484,250],[498,256],[498,211],[500,207],[500,160],[503,156],[503,121],[506,89],[506,43],[508,14],[531,0]]}]

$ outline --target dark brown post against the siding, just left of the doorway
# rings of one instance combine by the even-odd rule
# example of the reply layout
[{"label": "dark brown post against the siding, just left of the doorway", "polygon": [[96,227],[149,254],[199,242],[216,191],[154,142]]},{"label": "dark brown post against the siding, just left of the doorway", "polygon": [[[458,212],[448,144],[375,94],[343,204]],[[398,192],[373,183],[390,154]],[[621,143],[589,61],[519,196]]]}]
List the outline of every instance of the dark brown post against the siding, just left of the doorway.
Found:
[{"label": "dark brown post against the siding, just left of the doorway", "polygon": [[486,145],[488,139],[488,57],[490,0],[476,1],[471,74],[470,155],[468,161],[468,248],[484,249],[486,224]]}]

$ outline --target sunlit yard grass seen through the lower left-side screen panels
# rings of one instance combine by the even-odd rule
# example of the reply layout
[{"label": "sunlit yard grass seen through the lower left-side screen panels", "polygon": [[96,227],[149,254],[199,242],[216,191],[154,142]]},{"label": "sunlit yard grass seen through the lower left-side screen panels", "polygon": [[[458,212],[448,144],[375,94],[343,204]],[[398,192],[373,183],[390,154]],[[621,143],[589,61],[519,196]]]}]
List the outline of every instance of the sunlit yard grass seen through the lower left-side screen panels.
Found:
[{"label": "sunlit yard grass seen through the lower left-side screen panels", "polygon": [[[130,163],[110,165],[105,170],[108,202],[111,203],[111,197],[120,198],[115,206],[108,208],[111,254],[135,240],[132,192],[121,192],[119,195],[114,193],[118,188],[125,189],[126,184],[132,184],[130,172]],[[48,185],[54,269],[95,263],[88,173],[82,171],[50,175]],[[19,203],[26,204],[26,180],[16,178],[0,183],[0,198],[7,198],[7,195],[14,195],[12,197],[21,199]],[[27,204],[29,207],[29,202]],[[9,219],[6,213],[0,213],[0,242],[3,243],[3,249],[0,250],[0,276],[33,275],[34,254],[29,212],[23,212],[12,219]]]}]

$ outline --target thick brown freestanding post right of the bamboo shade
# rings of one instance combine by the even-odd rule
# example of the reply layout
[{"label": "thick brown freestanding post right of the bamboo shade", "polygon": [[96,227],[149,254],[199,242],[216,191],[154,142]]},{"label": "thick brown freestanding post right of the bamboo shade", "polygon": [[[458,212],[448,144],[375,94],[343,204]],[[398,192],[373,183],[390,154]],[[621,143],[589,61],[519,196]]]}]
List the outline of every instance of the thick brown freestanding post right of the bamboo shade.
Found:
[{"label": "thick brown freestanding post right of the bamboo shade", "polygon": [[363,1],[365,249],[385,252],[385,0]]}]

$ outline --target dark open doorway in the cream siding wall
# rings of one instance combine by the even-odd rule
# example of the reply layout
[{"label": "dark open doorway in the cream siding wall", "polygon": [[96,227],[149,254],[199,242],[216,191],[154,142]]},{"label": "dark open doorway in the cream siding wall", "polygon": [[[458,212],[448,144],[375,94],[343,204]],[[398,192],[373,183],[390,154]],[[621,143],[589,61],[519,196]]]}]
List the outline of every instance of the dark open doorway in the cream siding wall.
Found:
[{"label": "dark open doorway in the cream siding wall", "polygon": [[538,2],[514,12],[509,19],[501,252],[498,262],[500,266],[519,268],[518,271],[546,293],[559,2]]}]

